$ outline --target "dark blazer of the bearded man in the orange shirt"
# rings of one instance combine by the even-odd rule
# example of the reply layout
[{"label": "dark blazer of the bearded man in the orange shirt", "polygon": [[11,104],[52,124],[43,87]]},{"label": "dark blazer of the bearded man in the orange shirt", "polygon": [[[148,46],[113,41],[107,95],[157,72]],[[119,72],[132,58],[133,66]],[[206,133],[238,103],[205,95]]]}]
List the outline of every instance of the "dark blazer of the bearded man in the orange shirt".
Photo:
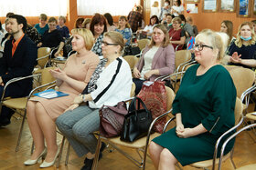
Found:
[{"label": "dark blazer of the bearded man in the orange shirt", "polygon": [[[0,76],[4,84],[12,78],[32,75],[37,64],[37,46],[27,35],[24,35],[12,56],[13,37],[5,43],[4,55],[0,59]],[[19,81],[8,88],[10,96],[28,95],[32,89],[32,78]]]}]

